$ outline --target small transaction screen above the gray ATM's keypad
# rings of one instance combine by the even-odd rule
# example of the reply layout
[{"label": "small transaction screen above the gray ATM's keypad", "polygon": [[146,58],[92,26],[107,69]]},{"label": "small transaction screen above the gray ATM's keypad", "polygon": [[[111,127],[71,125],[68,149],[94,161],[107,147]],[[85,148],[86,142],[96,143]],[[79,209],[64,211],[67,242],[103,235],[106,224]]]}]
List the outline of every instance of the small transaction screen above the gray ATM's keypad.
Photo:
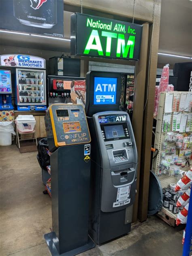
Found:
[{"label": "small transaction screen above the gray ATM's keypad", "polygon": [[106,139],[116,139],[125,137],[122,124],[104,126]]}]

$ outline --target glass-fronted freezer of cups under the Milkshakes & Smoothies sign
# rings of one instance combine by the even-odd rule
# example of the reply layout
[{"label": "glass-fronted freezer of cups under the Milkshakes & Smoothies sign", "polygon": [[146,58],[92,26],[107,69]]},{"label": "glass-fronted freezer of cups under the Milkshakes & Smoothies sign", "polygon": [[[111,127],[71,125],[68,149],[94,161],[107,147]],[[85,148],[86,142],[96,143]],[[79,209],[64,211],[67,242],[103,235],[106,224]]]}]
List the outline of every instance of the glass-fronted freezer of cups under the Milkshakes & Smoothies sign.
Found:
[{"label": "glass-fronted freezer of cups under the Milkshakes & Smoothies sign", "polygon": [[43,111],[46,109],[46,71],[16,69],[17,110]]}]

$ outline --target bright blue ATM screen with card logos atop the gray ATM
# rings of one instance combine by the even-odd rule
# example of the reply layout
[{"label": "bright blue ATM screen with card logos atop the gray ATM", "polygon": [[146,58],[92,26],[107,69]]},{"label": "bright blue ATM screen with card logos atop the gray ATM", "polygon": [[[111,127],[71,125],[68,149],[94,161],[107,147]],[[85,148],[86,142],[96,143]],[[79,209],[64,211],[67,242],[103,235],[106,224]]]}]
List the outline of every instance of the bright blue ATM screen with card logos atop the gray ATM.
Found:
[{"label": "bright blue ATM screen with card logos atop the gray ATM", "polygon": [[94,105],[116,104],[117,78],[94,77]]}]

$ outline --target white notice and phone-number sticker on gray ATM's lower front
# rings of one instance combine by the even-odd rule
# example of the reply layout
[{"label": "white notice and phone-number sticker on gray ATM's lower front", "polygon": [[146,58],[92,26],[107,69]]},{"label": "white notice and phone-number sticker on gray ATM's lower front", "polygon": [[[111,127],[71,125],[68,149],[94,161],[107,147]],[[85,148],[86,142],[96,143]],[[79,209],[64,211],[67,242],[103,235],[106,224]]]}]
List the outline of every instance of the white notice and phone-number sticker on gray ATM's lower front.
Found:
[{"label": "white notice and phone-number sticker on gray ATM's lower front", "polygon": [[113,203],[113,207],[120,207],[123,205],[128,205],[131,201],[129,198],[131,186],[125,186],[118,188],[117,190],[117,200]]}]

